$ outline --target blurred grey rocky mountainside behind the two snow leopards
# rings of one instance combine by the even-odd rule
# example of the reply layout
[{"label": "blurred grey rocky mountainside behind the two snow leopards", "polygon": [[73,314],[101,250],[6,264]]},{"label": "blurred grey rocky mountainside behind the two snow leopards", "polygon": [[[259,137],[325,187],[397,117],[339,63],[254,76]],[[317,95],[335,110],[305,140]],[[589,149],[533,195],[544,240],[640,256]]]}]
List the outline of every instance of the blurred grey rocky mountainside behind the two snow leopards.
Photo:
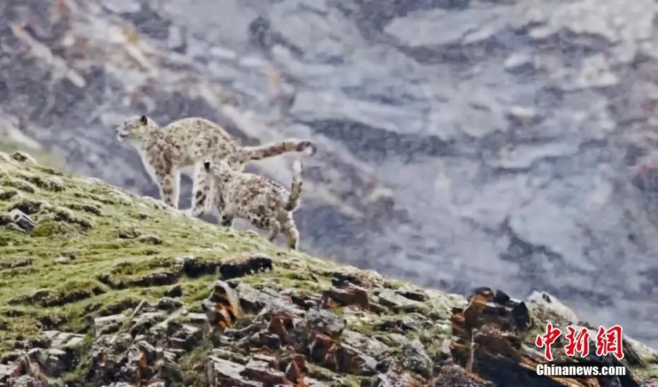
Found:
[{"label": "blurred grey rocky mountainside behind the two snow leopards", "polygon": [[[654,1],[222,4],[5,1],[6,130],[151,195],[112,137],[126,114],[312,137],[305,249],[456,292],[549,290],[655,340],[655,177],[627,168],[656,124]],[[258,167],[285,180],[288,161]]]}]

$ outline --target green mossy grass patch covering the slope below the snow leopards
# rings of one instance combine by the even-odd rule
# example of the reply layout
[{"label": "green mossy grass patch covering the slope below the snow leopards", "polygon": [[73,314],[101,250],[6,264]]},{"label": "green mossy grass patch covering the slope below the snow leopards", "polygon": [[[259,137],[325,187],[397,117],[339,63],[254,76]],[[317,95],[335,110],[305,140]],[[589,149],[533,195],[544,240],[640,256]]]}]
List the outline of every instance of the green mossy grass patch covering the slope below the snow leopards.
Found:
[{"label": "green mossy grass patch covering the slope below the snow leopards", "polygon": [[[0,195],[4,198],[1,203],[6,209],[29,210],[37,223],[30,233],[0,227],[0,263],[8,263],[0,265],[1,326],[8,327],[0,329],[0,352],[12,350],[19,335],[40,338],[42,316],[58,316],[59,326],[48,328],[86,333],[90,317],[120,313],[137,300],[157,302],[173,285],[180,285],[183,300],[193,308],[208,296],[208,286],[217,278],[214,271],[197,278],[180,273],[175,283],[163,285],[139,281],[154,273],[180,270],[177,257],[191,256],[215,268],[235,254],[258,252],[275,259],[275,271],[244,278],[252,285],[308,292],[330,285],[323,277],[318,284],[286,261],[306,266],[312,261],[304,254],[248,233],[158,209],[156,201],[144,201],[96,179],[4,161],[0,161],[0,171],[4,174],[0,185],[5,187],[1,192],[11,192]],[[144,235],[157,236],[161,244],[140,238]],[[58,263],[59,256],[69,260]],[[25,257],[32,260],[29,265],[11,266]],[[316,262],[313,266],[330,268],[334,264]],[[111,287],[103,283],[103,275],[128,285]]]}]

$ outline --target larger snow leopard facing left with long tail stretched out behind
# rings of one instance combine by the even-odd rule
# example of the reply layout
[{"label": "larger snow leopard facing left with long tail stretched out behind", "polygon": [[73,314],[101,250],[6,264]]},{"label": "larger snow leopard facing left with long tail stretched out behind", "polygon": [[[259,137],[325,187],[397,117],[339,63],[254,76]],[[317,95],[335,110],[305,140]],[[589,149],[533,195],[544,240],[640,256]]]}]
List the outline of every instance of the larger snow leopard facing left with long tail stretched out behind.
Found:
[{"label": "larger snow leopard facing left with long tail stretched out behind", "polygon": [[146,171],[160,188],[161,200],[178,208],[180,194],[180,169],[194,165],[193,198],[190,215],[200,216],[212,207],[208,198],[212,193],[212,181],[204,172],[203,161],[221,160],[241,151],[245,162],[236,165],[240,171],[248,162],[262,160],[283,153],[316,153],[311,141],[288,139],[279,143],[242,147],[219,124],[207,119],[190,117],[159,126],[144,115],[131,117],[116,129],[119,141],[127,141],[137,149]]}]

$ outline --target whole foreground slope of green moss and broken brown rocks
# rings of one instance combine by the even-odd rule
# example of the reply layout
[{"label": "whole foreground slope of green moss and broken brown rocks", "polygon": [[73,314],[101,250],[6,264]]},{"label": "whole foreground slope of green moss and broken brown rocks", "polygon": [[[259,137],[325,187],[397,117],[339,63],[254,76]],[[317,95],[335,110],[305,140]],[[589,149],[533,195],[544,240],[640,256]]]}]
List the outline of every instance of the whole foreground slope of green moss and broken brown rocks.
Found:
[{"label": "whole foreground slope of green moss and broken brown rocks", "polygon": [[[388,280],[25,153],[0,153],[0,208],[0,386],[658,386],[658,352],[596,356],[596,327],[544,292]],[[547,321],[591,331],[556,360],[625,375],[536,376]]]}]

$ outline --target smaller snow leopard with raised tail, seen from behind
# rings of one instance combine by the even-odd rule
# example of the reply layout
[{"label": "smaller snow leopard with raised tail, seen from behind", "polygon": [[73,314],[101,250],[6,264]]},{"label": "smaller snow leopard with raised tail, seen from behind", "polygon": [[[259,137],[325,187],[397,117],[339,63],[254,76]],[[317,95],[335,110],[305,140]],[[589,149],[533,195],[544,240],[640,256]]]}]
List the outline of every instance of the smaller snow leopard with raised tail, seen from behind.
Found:
[{"label": "smaller snow leopard with raised tail, seen from behind", "polygon": [[[301,198],[301,162],[295,160],[290,191],[272,179],[236,170],[236,165],[244,160],[239,153],[226,160],[205,160],[204,170],[214,180],[219,189],[214,192],[214,203],[219,210],[221,225],[233,227],[233,218],[249,220],[261,230],[270,230],[268,239],[274,241],[282,232],[289,249],[299,245],[299,231],[292,213],[299,206]],[[244,156],[242,156],[244,157]]]}]

